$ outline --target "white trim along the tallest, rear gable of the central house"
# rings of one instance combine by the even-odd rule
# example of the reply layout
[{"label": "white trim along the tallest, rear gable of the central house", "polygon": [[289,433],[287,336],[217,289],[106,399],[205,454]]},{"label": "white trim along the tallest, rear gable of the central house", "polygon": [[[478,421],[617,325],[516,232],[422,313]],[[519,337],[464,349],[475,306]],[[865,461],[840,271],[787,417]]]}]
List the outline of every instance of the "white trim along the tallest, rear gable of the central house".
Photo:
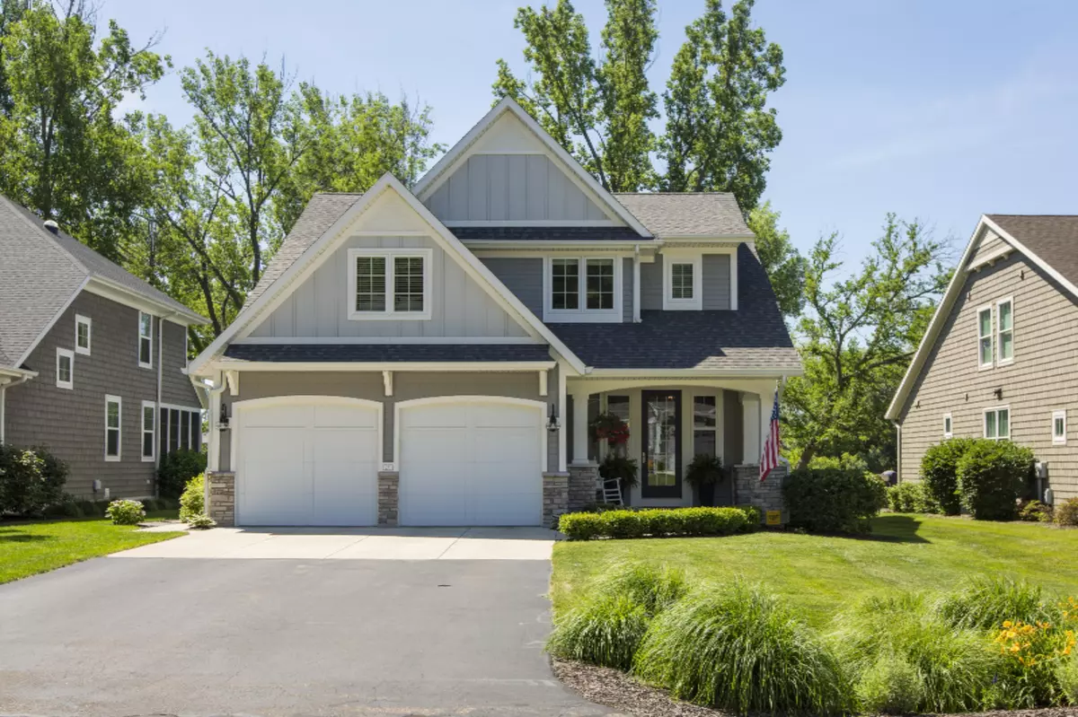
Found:
[{"label": "white trim along the tallest, rear gable of the central house", "polygon": [[[415,185],[415,196],[418,197],[420,201],[429,198],[439,186],[448,180],[454,170],[467,161],[469,156],[475,154],[474,152],[469,151],[471,146],[492,126],[494,126],[494,123],[497,122],[505,112],[512,112],[525,127],[531,130],[531,132],[539,138],[547,149],[545,154],[551,158],[551,160],[569,170],[566,175],[572,181],[573,184],[583,189],[586,194],[593,195],[599,200],[600,205],[606,207],[609,213],[617,215],[625,222],[625,224],[636,229],[641,237],[651,236],[651,233],[648,231],[642,224],[640,224],[639,220],[633,216],[632,212],[614,199],[609,192],[604,189],[603,185],[595,181],[595,178],[580,166],[579,161],[573,159],[561,144],[554,141],[553,137],[547,133],[547,130],[539,126],[538,122],[531,118],[531,115],[524,111],[524,108],[509,97],[494,106],[494,108],[487,112],[486,115],[480,120],[479,123],[472,127],[462,139],[460,139],[460,141],[453,145],[453,149],[442,155],[442,158],[439,159],[438,163],[423,175],[423,179],[420,179]],[[531,154],[530,151],[526,153]],[[497,222],[497,224],[500,225],[505,223]]]}]

